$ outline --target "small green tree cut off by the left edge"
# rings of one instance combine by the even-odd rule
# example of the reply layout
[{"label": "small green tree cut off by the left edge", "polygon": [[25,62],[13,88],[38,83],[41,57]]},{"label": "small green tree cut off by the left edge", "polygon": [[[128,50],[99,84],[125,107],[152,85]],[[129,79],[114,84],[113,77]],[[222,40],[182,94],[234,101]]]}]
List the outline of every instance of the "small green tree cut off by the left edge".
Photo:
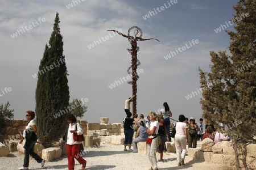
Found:
[{"label": "small green tree cut off by the left edge", "polygon": [[3,104],[0,105],[0,138],[3,137],[6,133],[6,125],[10,121],[11,118],[13,118],[13,109],[8,109],[10,107],[9,101],[3,106]]}]

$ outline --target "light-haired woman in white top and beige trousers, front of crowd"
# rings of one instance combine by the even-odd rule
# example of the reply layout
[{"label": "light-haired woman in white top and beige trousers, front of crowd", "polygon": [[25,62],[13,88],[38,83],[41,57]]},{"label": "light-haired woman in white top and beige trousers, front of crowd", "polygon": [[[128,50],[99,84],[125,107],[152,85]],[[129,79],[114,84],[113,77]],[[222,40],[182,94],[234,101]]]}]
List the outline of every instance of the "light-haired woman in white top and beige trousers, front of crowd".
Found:
[{"label": "light-haired woman in white top and beige trousers, front of crowd", "polygon": [[156,138],[156,135],[158,134],[159,124],[158,124],[158,116],[156,115],[155,112],[150,112],[148,116],[151,121],[147,129],[148,138],[154,138],[154,139],[152,139],[151,144],[147,145],[147,156],[151,164],[150,169],[154,170],[154,169],[158,169],[158,164],[156,160],[156,149],[158,147],[158,139]]}]

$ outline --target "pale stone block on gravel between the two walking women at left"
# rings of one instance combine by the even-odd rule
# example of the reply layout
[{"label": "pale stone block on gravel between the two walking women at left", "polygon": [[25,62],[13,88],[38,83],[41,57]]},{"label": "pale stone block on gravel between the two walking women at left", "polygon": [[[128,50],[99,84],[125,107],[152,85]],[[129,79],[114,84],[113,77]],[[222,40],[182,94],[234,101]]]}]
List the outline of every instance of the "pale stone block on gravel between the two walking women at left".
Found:
[{"label": "pale stone block on gravel between the two walking women at left", "polygon": [[42,159],[46,160],[47,162],[60,158],[61,156],[61,149],[56,147],[49,147],[43,150],[42,152]]}]

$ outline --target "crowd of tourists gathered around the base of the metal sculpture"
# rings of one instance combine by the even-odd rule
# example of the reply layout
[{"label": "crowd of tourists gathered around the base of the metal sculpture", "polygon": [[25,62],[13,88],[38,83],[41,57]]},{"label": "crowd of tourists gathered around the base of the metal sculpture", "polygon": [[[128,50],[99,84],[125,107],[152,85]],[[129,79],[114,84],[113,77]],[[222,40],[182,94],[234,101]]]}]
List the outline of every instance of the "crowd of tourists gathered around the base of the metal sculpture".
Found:
[{"label": "crowd of tourists gathered around the base of the metal sculpture", "polygon": [[[159,113],[150,112],[147,118],[144,118],[143,114],[137,118],[138,115],[134,114],[134,117],[131,118],[130,102],[133,97],[125,101],[126,118],[122,121],[125,125],[124,151],[138,152],[137,143],[147,141],[147,156],[151,164],[150,170],[158,169],[156,152],[160,153],[159,161],[163,161],[163,152],[166,151],[165,142],[171,142],[170,117],[172,117],[172,112],[167,102],[164,102],[163,108],[160,109]],[[138,127],[138,130],[134,127]],[[203,141],[205,138],[212,139],[214,143],[229,139],[228,135],[220,133],[218,129],[214,131],[212,125],[204,126],[203,118],[200,118],[199,122],[196,123],[195,118],[191,117],[188,121],[187,117],[180,114],[179,122],[175,123],[174,128],[176,130],[174,143],[178,166],[185,165],[184,159],[187,145],[189,148],[196,148],[197,141]],[[133,140],[134,131],[137,131],[137,134]],[[151,141],[151,143],[148,143],[148,141]],[[133,150],[131,149],[132,142]],[[127,146],[129,147],[128,150]]]}]

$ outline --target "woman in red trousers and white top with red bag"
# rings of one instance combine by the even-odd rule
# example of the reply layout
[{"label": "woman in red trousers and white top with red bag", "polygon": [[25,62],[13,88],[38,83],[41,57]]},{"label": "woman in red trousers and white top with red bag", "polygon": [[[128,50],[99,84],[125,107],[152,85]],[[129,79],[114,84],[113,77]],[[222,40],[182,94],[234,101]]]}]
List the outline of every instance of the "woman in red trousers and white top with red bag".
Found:
[{"label": "woman in red trousers and white top with red bag", "polygon": [[82,142],[74,141],[73,134],[77,135],[84,134],[84,130],[82,130],[82,126],[79,122],[76,122],[76,117],[73,114],[68,116],[68,134],[67,134],[67,156],[68,156],[68,169],[74,170],[75,168],[75,158],[76,160],[82,164],[82,169],[86,167],[86,160],[82,158],[82,154],[79,153],[79,145]]}]

